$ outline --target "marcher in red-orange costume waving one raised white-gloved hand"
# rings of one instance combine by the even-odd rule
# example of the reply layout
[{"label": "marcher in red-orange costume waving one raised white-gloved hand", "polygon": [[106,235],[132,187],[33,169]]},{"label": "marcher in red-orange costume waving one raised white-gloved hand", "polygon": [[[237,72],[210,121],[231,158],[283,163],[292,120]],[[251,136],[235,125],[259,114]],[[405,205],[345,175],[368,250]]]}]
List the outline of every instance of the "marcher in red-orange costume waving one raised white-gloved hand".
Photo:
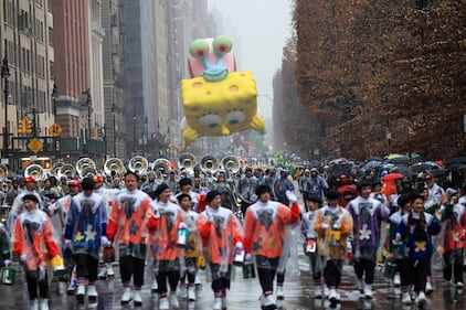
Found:
[{"label": "marcher in red-orange costume waving one raised white-gloved hand", "polygon": [[267,310],[276,309],[273,299],[274,278],[283,254],[285,226],[296,223],[300,213],[296,195],[293,192],[286,191],[290,207],[271,201],[271,192],[272,190],[267,185],[257,186],[258,201],[247,209],[244,223],[246,260],[252,259],[251,254],[255,255],[263,291],[262,309]]}]

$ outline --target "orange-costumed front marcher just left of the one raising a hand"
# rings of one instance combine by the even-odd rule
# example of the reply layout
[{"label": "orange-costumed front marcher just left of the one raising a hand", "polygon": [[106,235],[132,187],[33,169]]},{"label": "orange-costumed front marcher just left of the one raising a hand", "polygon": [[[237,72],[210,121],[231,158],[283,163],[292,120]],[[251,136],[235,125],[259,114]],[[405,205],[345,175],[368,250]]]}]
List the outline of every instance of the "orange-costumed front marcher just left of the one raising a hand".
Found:
[{"label": "orange-costumed front marcher just left of the one raising a hand", "polygon": [[198,220],[202,248],[212,274],[214,310],[226,309],[226,290],[230,289],[233,254],[243,250],[240,222],[231,210],[221,206],[219,192],[210,191],[208,206]]}]

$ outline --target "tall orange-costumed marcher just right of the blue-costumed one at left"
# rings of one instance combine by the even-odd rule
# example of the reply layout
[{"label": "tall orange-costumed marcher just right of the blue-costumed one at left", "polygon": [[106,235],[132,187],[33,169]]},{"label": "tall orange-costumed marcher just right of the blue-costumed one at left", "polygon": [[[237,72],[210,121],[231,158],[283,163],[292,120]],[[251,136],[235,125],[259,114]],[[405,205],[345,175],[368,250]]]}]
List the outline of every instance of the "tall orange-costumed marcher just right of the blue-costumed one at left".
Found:
[{"label": "tall orange-costumed marcher just right of the blue-costumed one at left", "polygon": [[[142,306],[140,290],[144,285],[144,267],[146,263],[146,237],[148,235],[146,223],[152,216],[150,197],[139,191],[139,177],[128,171],[125,174],[125,186],[112,205],[108,221],[107,236],[109,246],[112,242],[118,244],[119,271],[124,292],[121,304],[127,304],[131,299],[135,306]],[[134,292],[130,288],[133,277]]]}]

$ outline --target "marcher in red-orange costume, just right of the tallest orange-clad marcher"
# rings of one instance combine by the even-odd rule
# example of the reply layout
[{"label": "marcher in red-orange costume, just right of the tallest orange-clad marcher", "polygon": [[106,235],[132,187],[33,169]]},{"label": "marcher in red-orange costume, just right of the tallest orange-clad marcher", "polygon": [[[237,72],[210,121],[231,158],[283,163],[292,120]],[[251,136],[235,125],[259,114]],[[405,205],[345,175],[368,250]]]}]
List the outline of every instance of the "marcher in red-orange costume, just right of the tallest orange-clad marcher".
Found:
[{"label": "marcher in red-orange costume, just right of the tallest orange-clad marcher", "polygon": [[[180,248],[177,246],[178,229],[188,228],[180,207],[170,202],[170,188],[162,183],[156,191],[153,216],[148,220],[150,254],[156,263],[159,309],[179,308],[177,286],[180,280]],[[167,280],[170,285],[168,297]]]}]

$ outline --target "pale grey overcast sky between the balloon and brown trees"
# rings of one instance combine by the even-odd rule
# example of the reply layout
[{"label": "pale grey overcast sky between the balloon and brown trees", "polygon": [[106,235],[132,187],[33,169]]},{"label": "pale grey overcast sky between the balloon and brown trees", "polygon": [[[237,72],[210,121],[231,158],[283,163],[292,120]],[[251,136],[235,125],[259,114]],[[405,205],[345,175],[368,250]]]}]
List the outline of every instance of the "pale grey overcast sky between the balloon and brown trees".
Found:
[{"label": "pale grey overcast sky between the balloon and brown trees", "polygon": [[[223,17],[223,32],[233,40],[239,71],[252,71],[257,93],[273,97],[272,78],[282,66],[292,33],[289,0],[209,0]],[[258,96],[260,114],[272,117],[271,100]]]}]

